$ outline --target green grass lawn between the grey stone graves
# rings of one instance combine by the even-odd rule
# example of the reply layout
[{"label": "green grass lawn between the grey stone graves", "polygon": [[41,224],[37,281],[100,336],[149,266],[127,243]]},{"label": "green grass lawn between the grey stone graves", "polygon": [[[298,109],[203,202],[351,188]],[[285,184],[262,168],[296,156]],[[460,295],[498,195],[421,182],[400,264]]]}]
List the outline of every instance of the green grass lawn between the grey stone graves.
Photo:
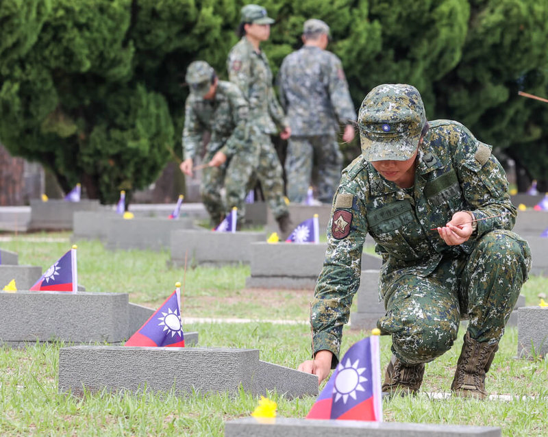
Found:
[{"label": "green grass lawn between the grey stone graves", "polygon": [[[37,240],[55,239],[52,242]],[[61,241],[58,241],[61,240]],[[55,262],[71,246],[70,234],[31,234],[0,241],[16,251],[20,264]],[[78,242],[79,283],[88,291],[128,292],[130,301],[155,308],[185,283],[184,316],[256,319],[252,323],[185,325],[199,332],[201,347],[260,349],[260,358],[295,368],[310,353],[307,325],[275,325],[268,319],[306,320],[311,291],[245,290],[249,267],[174,269],[168,252],[105,251],[99,242]],[[548,293],[548,279],[532,277],[523,288],[527,305]],[[345,328],[343,351],[364,336]],[[462,347],[427,364],[423,390],[447,392]],[[425,395],[384,401],[384,419],[398,422],[490,425],[504,436],[548,435],[548,360],[516,360],[517,331],[508,328],[488,373],[488,391],[524,395],[519,401],[430,400]],[[0,435],[19,436],[223,436],[224,421],[249,416],[258,399],[245,392],[227,395],[110,394],[86,392],[82,397],[58,394],[59,348],[63,344],[0,349]],[[381,338],[381,362],[390,358],[390,338]],[[314,398],[288,400],[273,392],[278,416],[303,417]],[[544,399],[542,399],[544,397]]]}]

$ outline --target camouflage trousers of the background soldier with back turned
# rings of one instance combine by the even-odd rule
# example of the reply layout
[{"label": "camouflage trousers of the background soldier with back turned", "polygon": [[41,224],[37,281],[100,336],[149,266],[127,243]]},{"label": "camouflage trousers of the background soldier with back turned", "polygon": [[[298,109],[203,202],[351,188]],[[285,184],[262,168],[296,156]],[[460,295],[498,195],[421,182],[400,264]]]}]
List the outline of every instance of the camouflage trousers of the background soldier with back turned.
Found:
[{"label": "camouflage trousers of the background soldier with back turned", "polygon": [[285,169],[287,197],[291,202],[306,200],[306,192],[312,185],[314,163],[318,168],[318,199],[332,203],[343,167],[343,154],[334,133],[289,138]]}]

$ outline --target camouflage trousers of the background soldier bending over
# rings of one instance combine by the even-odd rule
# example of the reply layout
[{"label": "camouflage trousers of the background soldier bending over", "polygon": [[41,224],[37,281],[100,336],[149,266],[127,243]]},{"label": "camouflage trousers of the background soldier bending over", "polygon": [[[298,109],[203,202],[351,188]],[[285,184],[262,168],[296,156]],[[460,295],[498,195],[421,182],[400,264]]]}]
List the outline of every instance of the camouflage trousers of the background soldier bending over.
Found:
[{"label": "camouflage trousers of the background soldier bending over", "polygon": [[[210,162],[215,153],[208,151],[203,162]],[[201,171],[200,195],[203,205],[210,214],[212,225],[219,225],[225,215],[225,204],[221,197],[221,188],[225,182],[226,164],[219,167],[206,167]]]}]

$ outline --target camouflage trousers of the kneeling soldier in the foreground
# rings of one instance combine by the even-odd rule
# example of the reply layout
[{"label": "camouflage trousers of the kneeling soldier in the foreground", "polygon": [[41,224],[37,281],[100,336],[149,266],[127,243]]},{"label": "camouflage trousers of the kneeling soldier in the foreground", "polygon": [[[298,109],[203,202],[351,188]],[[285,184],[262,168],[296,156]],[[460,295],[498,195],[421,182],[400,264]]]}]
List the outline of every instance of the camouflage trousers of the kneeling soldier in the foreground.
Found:
[{"label": "camouflage trousers of the kneeling soldier in the foreground", "polygon": [[403,275],[384,295],[377,326],[392,334],[392,351],[406,364],[434,360],[457,338],[462,318],[478,342],[499,341],[531,268],[527,242],[510,231],[479,238],[473,251],[443,259],[427,277]]}]

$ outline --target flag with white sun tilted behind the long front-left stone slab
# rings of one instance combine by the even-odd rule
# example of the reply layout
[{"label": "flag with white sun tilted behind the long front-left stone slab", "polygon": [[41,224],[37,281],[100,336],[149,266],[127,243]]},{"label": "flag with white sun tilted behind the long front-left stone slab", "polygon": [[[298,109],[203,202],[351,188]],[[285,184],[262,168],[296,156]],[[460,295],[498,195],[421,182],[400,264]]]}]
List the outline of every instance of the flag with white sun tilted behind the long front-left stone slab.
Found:
[{"label": "flag with white sun tilted behind the long front-left stone slab", "polygon": [[175,291],[133,334],[125,346],[184,347],[181,321],[181,284],[175,284]]}]

